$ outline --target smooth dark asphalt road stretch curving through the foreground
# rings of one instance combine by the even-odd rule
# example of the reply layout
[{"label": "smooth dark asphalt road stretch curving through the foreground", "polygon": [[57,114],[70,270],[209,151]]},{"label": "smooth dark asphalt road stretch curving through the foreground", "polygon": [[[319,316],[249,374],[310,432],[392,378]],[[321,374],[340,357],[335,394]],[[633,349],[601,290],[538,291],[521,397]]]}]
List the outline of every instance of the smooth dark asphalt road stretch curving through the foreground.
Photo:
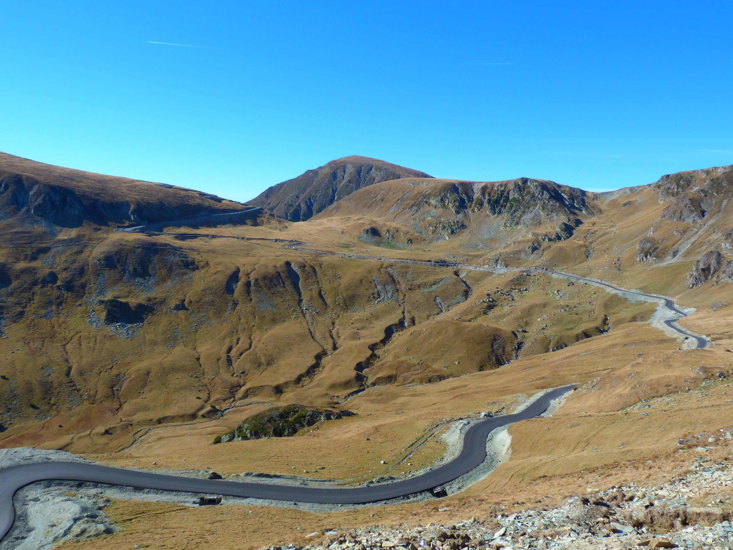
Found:
[{"label": "smooth dark asphalt road stretch curving through the foreground", "polygon": [[240,483],[226,480],[204,480],[152,472],[112,468],[81,462],[48,462],[21,464],[0,469],[0,540],[15,522],[12,497],[21,487],[37,481],[61,480],[125,485],[159,491],[241,496],[317,504],[365,504],[428,491],[471,472],[486,458],[486,440],[490,432],[504,425],[539,417],[550,403],[570,392],[575,385],[552,389],[523,411],[501,417],[479,420],[465,433],[463,449],[452,461],[416,477],[379,485],[353,488],[311,488],[268,483]]}]

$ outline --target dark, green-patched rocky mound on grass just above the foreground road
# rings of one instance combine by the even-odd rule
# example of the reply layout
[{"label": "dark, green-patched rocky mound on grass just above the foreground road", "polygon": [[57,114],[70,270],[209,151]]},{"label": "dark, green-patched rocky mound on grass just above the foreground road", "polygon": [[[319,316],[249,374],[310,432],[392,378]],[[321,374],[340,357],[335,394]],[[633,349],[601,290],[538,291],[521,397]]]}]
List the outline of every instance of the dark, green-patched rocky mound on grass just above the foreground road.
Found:
[{"label": "dark, green-patched rocky mound on grass just above the foreground road", "polygon": [[248,441],[249,439],[262,439],[263,437],[290,437],[298,433],[298,430],[318,422],[352,415],[353,413],[350,411],[309,408],[302,405],[276,407],[249,417],[234,430],[226,432],[223,436],[218,436],[214,442],[226,443],[226,441]]}]

